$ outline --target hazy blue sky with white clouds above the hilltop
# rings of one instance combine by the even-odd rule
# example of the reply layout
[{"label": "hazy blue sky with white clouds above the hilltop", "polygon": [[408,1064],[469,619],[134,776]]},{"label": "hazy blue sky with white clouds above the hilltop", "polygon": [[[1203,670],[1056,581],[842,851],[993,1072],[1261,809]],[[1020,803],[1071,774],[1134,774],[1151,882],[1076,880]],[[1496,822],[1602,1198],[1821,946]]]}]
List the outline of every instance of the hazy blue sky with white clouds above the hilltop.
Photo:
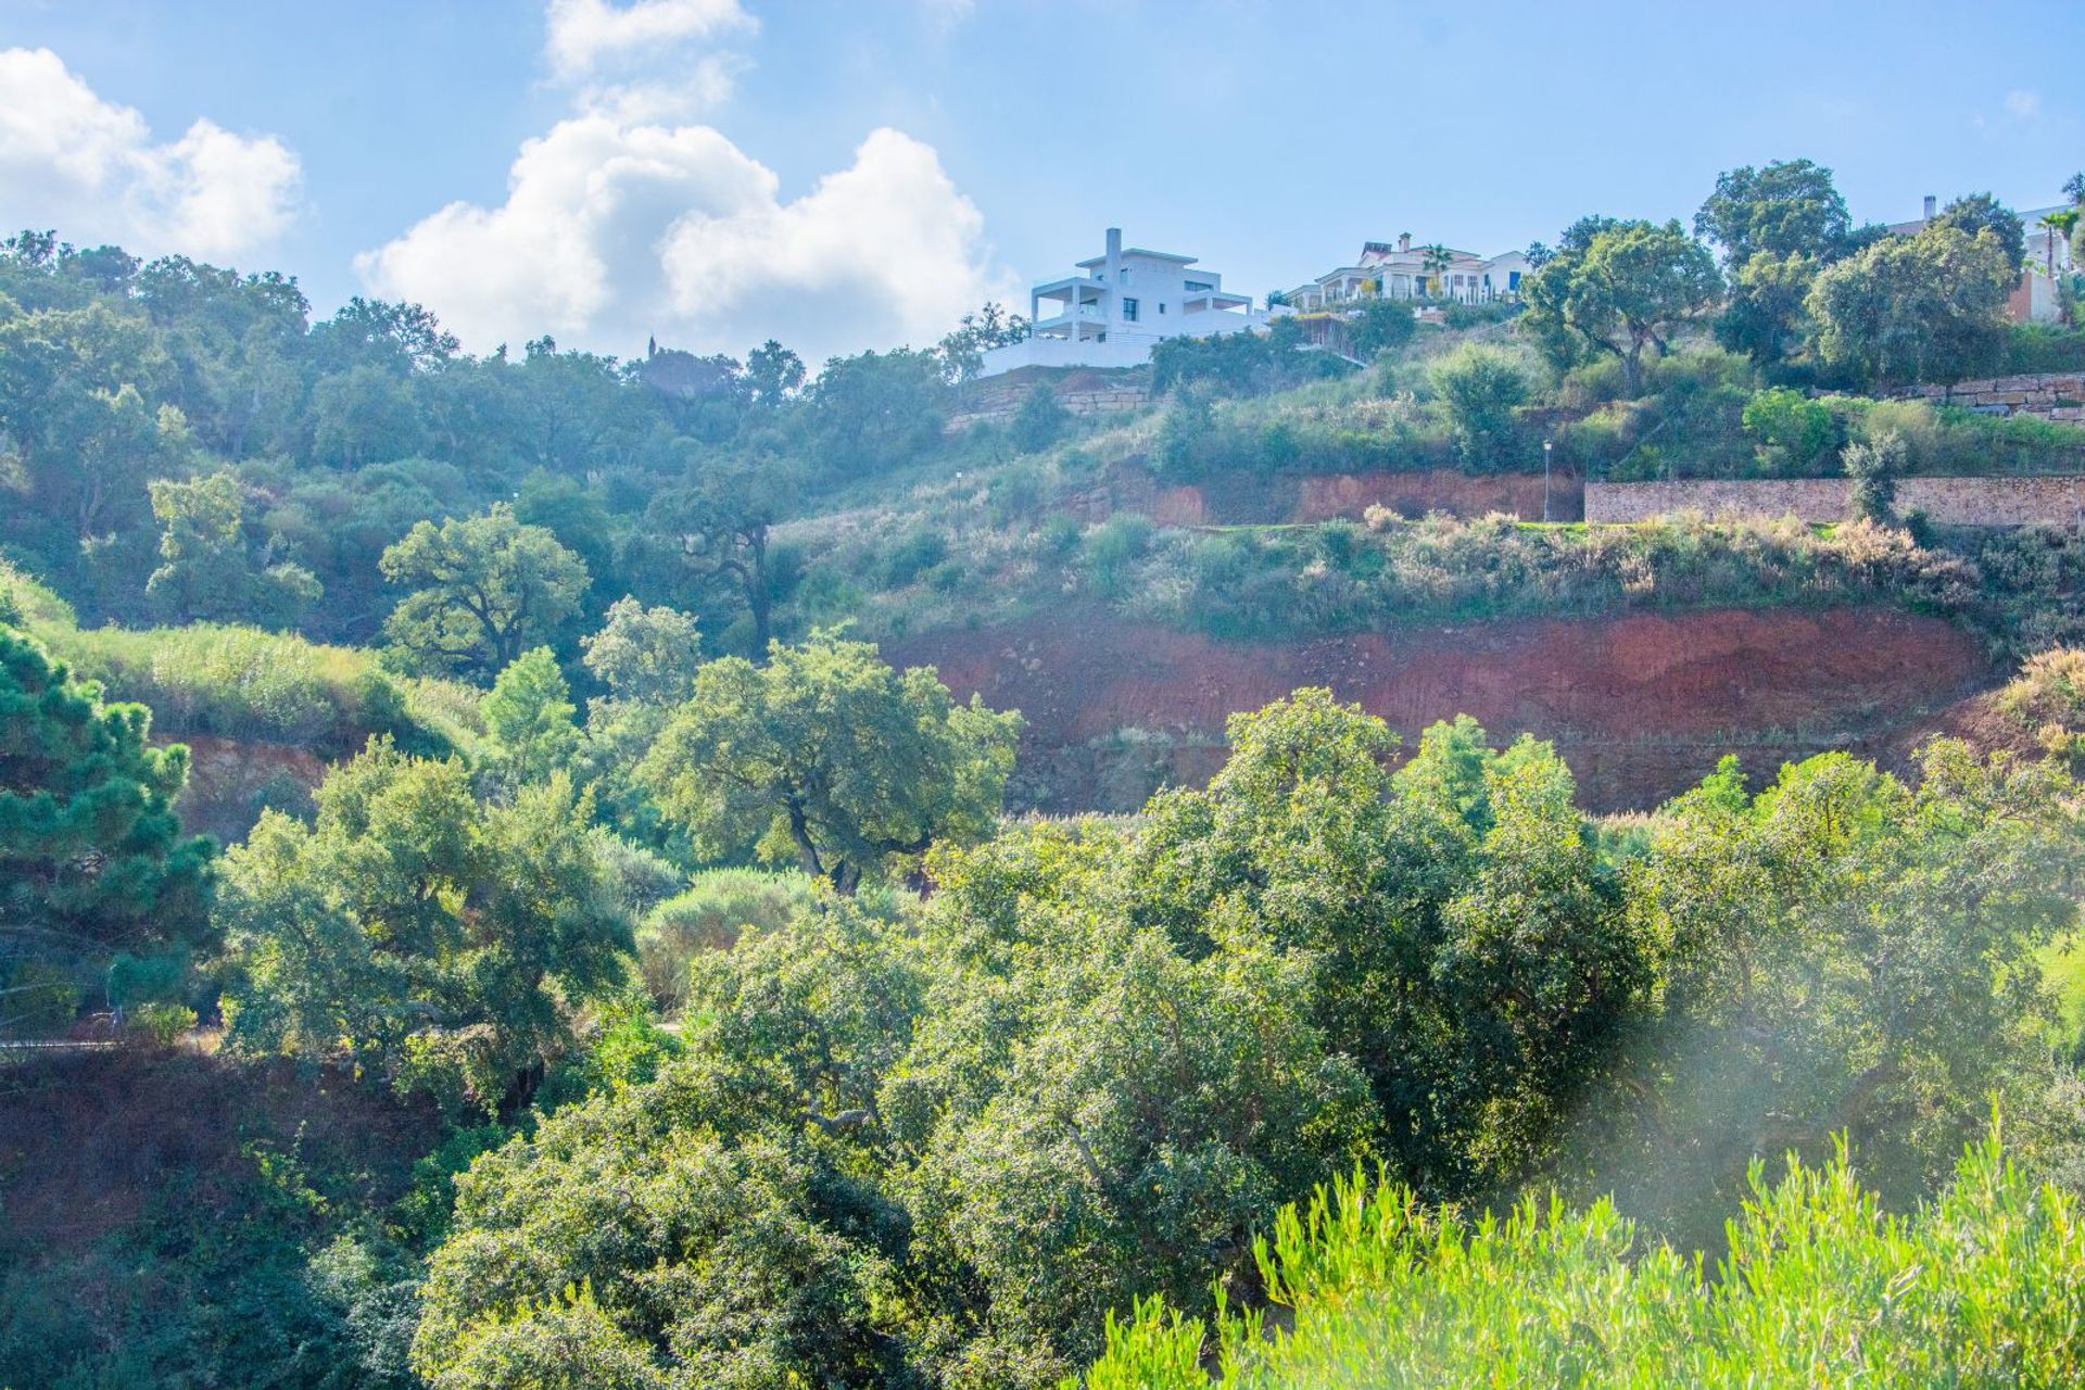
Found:
[{"label": "hazy blue sky with white clouds above the hilltop", "polygon": [[1264,296],[1829,165],[1862,221],[2085,167],[2085,4],[0,0],[0,227],[550,333],[926,346],[1134,246]]}]

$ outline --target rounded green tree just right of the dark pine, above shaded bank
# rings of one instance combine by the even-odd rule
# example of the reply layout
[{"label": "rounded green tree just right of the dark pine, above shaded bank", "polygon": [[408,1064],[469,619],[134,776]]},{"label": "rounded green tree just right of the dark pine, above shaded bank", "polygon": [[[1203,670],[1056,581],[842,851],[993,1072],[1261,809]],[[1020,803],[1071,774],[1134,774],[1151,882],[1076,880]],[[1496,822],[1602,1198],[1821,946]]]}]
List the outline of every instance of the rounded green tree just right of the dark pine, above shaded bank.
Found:
[{"label": "rounded green tree just right of the dark pine, above shaded bank", "polygon": [[400,1092],[513,1107],[623,977],[630,921],[563,775],[511,806],[388,742],[334,769],[317,821],[265,813],[225,859],[227,1040],[352,1059]]}]

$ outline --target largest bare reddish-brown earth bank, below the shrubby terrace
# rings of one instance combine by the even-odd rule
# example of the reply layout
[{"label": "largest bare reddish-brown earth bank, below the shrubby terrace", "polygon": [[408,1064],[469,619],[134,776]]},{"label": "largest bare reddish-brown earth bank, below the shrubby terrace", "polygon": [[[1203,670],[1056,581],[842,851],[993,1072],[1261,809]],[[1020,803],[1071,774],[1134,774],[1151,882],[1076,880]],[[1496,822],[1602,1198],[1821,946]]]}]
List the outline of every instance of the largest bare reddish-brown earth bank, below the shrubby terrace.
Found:
[{"label": "largest bare reddish-brown earth bank, below the shrubby terrace", "polygon": [[938,667],[957,696],[978,692],[1028,717],[1013,792],[1040,811],[1128,811],[1159,784],[1205,779],[1224,759],[1226,715],[1299,686],[1330,686],[1407,744],[1457,713],[1495,742],[1555,740],[1583,802],[1622,811],[1693,786],[1724,752],[1753,775],[1826,748],[1887,754],[1995,679],[1968,634],[1887,609],[1637,613],[1303,642],[1218,642],[1080,611],[884,648]]}]

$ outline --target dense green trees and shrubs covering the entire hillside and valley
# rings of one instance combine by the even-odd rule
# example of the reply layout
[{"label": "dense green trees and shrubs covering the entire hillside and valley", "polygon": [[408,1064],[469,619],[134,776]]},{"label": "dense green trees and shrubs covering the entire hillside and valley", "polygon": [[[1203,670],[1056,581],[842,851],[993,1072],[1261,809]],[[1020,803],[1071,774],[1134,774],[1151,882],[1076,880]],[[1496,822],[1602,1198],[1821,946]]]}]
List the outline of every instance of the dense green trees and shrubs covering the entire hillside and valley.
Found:
[{"label": "dense green trees and shrubs covering the entire hillside and valley", "polygon": [[[2079,354],[2000,321],[2008,217],[1741,169],[1695,235],[1583,219],[1524,308],[1168,344],[1145,411],[955,433],[992,306],[815,377],[473,358],[15,238],[0,1384],[2075,1380],[2085,542],[1893,483],[2085,431],[1862,394]],[[1543,442],[1854,515],[1118,504]],[[2027,659],[1974,744],[1610,819],[1551,744],[1326,690],[1134,817],[1009,819],[1020,715],[874,642],[1847,602]],[[215,844],[165,736],[304,771]],[[15,1046],[67,1040],[119,1050]]]}]

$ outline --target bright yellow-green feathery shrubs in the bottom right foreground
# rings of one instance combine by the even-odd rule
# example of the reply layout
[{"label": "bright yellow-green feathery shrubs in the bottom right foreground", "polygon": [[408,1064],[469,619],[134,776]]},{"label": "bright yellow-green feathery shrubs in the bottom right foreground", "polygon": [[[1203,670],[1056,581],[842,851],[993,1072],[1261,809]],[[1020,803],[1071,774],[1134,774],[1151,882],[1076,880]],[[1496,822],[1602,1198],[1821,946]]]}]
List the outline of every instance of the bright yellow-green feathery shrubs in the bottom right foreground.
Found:
[{"label": "bright yellow-green feathery shrubs in the bottom right foreground", "polygon": [[1728,1244],[1710,1277],[1701,1255],[1645,1248],[1608,1200],[1530,1196],[1472,1217],[1357,1175],[1282,1211],[1259,1246],[1291,1330],[1272,1334],[1257,1311],[1209,1325],[1153,1298],[1109,1327],[1078,1384],[2054,1388],[2085,1373],[2077,1198],[2035,1186],[1995,1125],[1908,1215],[1864,1190],[1843,1150],[1820,1167],[1791,1159],[1776,1184],[1753,1165]]}]

